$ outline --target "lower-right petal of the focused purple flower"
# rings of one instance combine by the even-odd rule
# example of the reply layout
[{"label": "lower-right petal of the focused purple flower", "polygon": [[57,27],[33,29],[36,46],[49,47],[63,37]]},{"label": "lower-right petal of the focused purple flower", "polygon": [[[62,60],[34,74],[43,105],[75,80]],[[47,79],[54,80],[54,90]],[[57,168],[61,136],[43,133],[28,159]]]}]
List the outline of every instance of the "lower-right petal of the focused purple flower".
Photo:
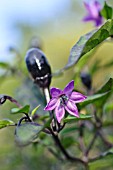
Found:
[{"label": "lower-right petal of the focused purple flower", "polygon": [[78,109],[73,102],[68,100],[67,105],[65,106],[65,109],[67,110],[69,114],[79,117]]}]

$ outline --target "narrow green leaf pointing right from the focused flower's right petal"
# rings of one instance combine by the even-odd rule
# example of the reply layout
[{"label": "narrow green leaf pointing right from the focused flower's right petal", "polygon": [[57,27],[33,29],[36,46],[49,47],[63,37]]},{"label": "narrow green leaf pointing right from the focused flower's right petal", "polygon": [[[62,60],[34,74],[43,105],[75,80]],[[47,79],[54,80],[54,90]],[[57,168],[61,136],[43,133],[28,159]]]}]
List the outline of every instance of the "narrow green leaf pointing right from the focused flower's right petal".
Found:
[{"label": "narrow green leaf pointing right from the focused flower's right petal", "polygon": [[78,108],[82,109],[83,107],[87,106],[88,104],[94,103],[94,102],[100,102],[103,97],[106,97],[110,92],[101,93],[101,94],[95,94],[93,96],[88,96],[86,100],[78,104]]}]

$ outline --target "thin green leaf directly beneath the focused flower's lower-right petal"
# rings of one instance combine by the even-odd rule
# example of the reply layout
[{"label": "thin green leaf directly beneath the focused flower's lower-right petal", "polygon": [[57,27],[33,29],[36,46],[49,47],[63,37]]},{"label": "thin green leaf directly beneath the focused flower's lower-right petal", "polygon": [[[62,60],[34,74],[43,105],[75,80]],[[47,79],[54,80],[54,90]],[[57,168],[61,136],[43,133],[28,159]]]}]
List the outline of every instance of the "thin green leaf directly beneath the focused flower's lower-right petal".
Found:
[{"label": "thin green leaf directly beneath the focused flower's lower-right petal", "polygon": [[66,117],[64,119],[64,122],[71,122],[71,121],[78,121],[78,120],[87,120],[87,119],[90,119],[90,118],[92,118],[92,116],[89,115],[89,114],[80,114],[79,118],[77,118],[75,116],[70,116],[69,115],[68,117]]}]

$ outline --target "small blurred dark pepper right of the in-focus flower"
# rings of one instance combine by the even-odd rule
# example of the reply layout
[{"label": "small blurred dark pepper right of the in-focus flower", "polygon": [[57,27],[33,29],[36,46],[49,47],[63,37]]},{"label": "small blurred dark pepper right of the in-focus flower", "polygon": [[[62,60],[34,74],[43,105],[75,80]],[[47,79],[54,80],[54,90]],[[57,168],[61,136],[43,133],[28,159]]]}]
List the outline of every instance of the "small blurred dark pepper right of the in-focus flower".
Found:
[{"label": "small blurred dark pepper right of the in-focus flower", "polygon": [[91,80],[90,74],[82,72],[80,77],[81,77],[82,83],[87,87],[87,89],[90,90],[92,86],[92,80]]}]

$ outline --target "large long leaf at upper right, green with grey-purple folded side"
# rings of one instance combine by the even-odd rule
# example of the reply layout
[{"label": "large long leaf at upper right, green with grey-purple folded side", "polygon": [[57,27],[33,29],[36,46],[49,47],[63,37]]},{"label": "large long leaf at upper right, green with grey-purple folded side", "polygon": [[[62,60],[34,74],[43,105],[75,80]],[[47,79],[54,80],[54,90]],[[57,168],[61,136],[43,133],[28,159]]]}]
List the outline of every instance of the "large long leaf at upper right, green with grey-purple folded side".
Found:
[{"label": "large long leaf at upper right, green with grey-purple folded side", "polygon": [[91,31],[82,36],[79,41],[72,47],[68,63],[62,69],[62,71],[75,65],[82,56],[87,54],[111,35],[113,35],[113,20],[108,20],[98,30]]}]

